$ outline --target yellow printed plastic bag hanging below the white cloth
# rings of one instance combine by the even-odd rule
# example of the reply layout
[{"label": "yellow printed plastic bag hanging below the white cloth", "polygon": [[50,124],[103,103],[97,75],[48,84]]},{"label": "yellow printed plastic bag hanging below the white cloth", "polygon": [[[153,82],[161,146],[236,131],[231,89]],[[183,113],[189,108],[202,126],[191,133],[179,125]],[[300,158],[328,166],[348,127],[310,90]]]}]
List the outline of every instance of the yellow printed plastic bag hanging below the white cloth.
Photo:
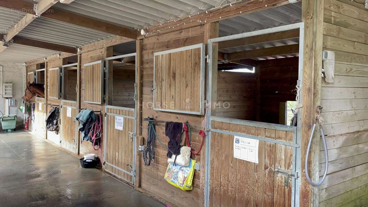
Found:
[{"label": "yellow printed plastic bag hanging below the white cloth", "polygon": [[169,164],[165,173],[165,180],[181,190],[192,190],[195,160],[190,159],[187,167]]}]

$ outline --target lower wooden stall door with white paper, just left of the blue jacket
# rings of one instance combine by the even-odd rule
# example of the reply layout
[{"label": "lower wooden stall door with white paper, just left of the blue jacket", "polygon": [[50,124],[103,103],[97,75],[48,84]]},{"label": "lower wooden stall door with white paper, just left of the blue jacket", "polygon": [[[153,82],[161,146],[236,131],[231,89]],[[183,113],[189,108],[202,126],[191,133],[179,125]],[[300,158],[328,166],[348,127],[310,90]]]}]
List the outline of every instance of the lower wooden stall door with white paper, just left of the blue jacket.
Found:
[{"label": "lower wooden stall door with white paper, just left of the blue jacket", "polygon": [[60,140],[61,147],[77,154],[78,140],[77,140],[77,123],[75,117],[77,116],[77,102],[62,101],[60,112]]}]

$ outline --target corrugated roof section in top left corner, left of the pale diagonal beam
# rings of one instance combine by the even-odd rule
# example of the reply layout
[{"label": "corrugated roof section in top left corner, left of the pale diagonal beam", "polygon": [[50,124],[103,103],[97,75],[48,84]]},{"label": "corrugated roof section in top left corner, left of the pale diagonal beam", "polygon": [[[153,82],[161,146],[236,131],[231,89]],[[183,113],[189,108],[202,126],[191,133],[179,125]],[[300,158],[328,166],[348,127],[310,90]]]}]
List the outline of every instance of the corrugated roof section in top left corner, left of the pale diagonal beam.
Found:
[{"label": "corrugated roof section in top left corner, left of the pale diagonal beam", "polygon": [[18,13],[14,10],[0,7],[0,33],[8,33],[24,16],[24,13]]}]

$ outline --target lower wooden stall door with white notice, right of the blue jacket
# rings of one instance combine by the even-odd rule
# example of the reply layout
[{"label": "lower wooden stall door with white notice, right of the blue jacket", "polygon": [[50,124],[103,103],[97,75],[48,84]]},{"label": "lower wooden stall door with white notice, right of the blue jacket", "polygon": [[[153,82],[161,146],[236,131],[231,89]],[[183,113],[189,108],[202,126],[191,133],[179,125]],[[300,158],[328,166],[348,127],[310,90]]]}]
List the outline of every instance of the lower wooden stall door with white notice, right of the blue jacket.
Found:
[{"label": "lower wooden stall door with white notice, right of the blue jacket", "polygon": [[134,109],[107,106],[106,113],[105,171],[134,184]]}]

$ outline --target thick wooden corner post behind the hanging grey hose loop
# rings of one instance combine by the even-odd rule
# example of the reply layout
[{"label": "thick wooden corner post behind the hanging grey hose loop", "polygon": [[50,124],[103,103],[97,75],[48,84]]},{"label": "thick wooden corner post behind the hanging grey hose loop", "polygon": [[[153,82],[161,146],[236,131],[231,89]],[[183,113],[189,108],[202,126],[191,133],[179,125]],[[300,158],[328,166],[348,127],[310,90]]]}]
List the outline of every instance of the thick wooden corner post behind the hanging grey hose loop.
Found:
[{"label": "thick wooden corner post behind the hanging grey hose loop", "polygon": [[[304,22],[304,52],[303,52],[303,107],[301,127],[301,183],[300,206],[318,206],[318,189],[312,187],[305,177],[305,156],[315,122],[316,106],[321,99],[322,73],[322,32],[323,32],[323,0],[302,1],[302,21]],[[319,130],[316,129],[316,132]],[[309,155],[309,175],[312,180],[318,176],[319,133],[315,133]]]}]

